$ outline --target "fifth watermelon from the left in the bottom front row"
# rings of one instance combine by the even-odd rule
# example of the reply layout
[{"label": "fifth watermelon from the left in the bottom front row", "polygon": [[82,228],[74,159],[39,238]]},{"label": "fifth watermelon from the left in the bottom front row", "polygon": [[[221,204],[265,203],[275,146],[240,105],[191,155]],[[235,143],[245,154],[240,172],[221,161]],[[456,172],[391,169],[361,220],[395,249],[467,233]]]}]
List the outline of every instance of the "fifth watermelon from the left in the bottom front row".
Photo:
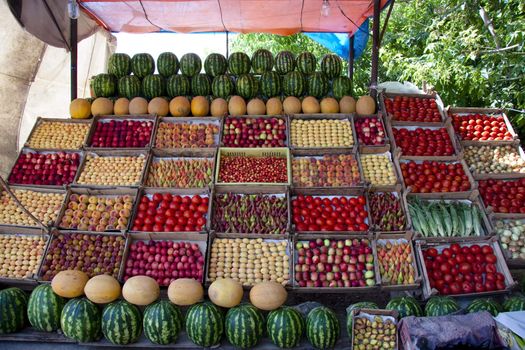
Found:
[{"label": "fifth watermelon from the left in the bottom front row", "polygon": [[177,305],[160,300],[144,310],[144,335],[152,343],[175,343],[182,330],[183,317]]}]

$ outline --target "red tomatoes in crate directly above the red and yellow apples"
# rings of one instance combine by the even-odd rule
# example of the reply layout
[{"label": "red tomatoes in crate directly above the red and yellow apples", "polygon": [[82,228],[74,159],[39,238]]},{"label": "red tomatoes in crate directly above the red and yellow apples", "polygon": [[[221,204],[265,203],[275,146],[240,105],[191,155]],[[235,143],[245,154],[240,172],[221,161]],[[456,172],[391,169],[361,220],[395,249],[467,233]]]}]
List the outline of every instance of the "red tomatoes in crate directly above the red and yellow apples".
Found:
[{"label": "red tomatoes in crate directly above the red and yellow apples", "polygon": [[298,232],[367,231],[366,198],[299,194],[292,200],[292,222]]}]

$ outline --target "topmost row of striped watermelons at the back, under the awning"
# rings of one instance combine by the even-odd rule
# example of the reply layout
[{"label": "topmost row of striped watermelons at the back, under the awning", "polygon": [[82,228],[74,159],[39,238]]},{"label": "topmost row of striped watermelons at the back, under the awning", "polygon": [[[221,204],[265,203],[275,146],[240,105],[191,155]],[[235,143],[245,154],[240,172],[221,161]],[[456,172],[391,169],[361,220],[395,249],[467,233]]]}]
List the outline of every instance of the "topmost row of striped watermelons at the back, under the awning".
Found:
[{"label": "topmost row of striped watermelons at the back, under the awning", "polygon": [[[179,61],[172,52],[164,52],[157,58],[157,71],[168,78],[180,72],[187,77],[193,77],[202,70],[202,61],[194,53],[183,55]],[[329,79],[338,77],[342,73],[343,65],[339,56],[334,54],[324,55],[319,63],[321,72]],[[294,71],[310,75],[316,71],[317,59],[311,52],[303,52],[297,57],[290,51],[281,51],[275,58],[266,49],[255,51],[252,58],[244,52],[234,52],[228,58],[220,53],[212,53],[204,60],[204,71],[211,77],[226,74],[243,75],[253,72],[263,74],[271,72],[275,67],[278,74],[285,75]],[[138,53],[132,58],[125,53],[115,53],[108,61],[108,73],[117,78],[133,73],[142,79],[155,72],[155,60],[148,53]]]}]

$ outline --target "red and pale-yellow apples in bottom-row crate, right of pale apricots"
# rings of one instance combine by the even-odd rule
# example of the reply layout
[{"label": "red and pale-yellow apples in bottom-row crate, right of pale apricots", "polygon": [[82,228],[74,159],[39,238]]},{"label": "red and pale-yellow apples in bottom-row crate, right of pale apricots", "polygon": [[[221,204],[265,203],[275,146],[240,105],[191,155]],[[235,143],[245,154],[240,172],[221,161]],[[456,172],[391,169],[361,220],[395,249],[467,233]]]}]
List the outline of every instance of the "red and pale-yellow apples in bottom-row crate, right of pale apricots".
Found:
[{"label": "red and pale-yellow apples in bottom-row crate, right of pale apricots", "polygon": [[374,254],[367,239],[299,241],[295,246],[299,287],[372,287]]}]

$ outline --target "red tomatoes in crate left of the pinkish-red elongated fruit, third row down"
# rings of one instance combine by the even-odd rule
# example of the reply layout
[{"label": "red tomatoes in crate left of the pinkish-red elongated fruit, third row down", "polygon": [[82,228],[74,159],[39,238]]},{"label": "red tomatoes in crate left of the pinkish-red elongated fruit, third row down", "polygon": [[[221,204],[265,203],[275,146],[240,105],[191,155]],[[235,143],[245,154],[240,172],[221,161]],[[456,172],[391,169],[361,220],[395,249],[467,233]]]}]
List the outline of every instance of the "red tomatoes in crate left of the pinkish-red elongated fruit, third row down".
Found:
[{"label": "red tomatoes in crate left of the pinkish-red elongated fruit, third row down", "polygon": [[206,228],[209,198],[201,195],[155,193],[143,195],[132,231],[195,232]]}]

